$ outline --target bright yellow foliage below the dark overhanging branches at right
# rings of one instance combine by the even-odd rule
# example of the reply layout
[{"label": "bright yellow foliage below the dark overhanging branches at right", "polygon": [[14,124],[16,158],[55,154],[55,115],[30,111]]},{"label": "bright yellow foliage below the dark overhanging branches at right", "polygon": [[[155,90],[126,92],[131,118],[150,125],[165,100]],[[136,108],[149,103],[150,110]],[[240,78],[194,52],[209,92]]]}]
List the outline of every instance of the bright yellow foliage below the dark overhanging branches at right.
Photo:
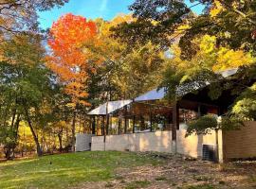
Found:
[{"label": "bright yellow foliage below the dark overhanging branches at right", "polygon": [[177,44],[172,46],[174,58],[171,60],[172,66],[178,70],[208,68],[212,71],[223,71],[231,68],[238,68],[243,65],[254,63],[256,60],[250,53],[242,50],[232,50],[227,47],[217,47],[216,37],[205,35],[196,39],[200,50],[192,60],[181,60],[180,48]]}]

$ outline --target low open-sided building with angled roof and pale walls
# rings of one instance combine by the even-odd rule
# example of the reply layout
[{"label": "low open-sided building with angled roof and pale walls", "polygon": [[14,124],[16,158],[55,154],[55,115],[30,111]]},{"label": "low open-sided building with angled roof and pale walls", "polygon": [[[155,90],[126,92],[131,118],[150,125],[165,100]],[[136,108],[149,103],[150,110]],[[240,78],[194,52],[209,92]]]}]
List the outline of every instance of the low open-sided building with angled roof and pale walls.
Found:
[{"label": "low open-sided building with angled roof and pale walls", "polygon": [[[223,77],[236,74],[225,71]],[[195,85],[196,86],[196,85]],[[91,150],[159,151],[179,153],[216,162],[256,157],[256,122],[240,130],[212,130],[185,137],[187,122],[203,114],[220,116],[234,101],[229,90],[211,100],[210,83],[183,94],[176,103],[164,99],[165,90],[153,90],[132,100],[107,102],[89,112]]]}]

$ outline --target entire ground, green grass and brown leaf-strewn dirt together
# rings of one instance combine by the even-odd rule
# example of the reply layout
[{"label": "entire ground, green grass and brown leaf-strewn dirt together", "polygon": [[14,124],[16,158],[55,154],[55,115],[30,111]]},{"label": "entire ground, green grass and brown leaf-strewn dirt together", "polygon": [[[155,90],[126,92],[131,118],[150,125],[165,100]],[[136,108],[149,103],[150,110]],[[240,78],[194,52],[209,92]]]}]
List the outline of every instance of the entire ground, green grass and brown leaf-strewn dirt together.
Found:
[{"label": "entire ground, green grass and brown leaf-strewn dirt together", "polygon": [[0,163],[6,188],[256,188],[256,162],[209,163],[152,152],[81,152]]}]

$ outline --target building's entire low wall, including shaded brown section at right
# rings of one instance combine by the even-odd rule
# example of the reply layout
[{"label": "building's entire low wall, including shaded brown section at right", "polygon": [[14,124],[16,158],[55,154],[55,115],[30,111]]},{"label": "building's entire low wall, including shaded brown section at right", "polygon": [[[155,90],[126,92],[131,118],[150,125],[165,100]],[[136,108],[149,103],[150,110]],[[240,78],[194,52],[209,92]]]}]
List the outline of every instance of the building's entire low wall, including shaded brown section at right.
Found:
[{"label": "building's entire low wall, including shaded brown section at right", "polygon": [[[219,162],[230,159],[256,158],[256,122],[247,122],[240,130],[212,131],[208,135],[185,137],[186,129],[176,132],[176,144],[172,143],[172,131],[156,131],[106,136],[105,150],[176,152],[194,158],[202,157],[203,145],[218,149]],[[103,136],[92,137],[92,150],[104,150]],[[216,140],[217,139],[217,140]],[[218,147],[217,147],[218,145]]]}]

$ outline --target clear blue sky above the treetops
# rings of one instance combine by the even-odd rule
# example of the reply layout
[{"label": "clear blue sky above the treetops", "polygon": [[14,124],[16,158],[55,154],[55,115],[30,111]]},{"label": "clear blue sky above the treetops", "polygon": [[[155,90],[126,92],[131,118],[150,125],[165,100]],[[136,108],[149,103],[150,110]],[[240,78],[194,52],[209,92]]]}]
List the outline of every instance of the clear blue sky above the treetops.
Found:
[{"label": "clear blue sky above the treetops", "polygon": [[[55,8],[39,12],[39,23],[42,28],[46,29],[60,16],[69,12],[82,15],[87,19],[101,17],[105,20],[111,20],[119,13],[129,13],[128,6],[133,2],[134,0],[69,0],[69,3],[61,9]],[[191,6],[189,3],[188,5]],[[193,10],[200,13],[202,9],[202,6],[196,6]]]}]

